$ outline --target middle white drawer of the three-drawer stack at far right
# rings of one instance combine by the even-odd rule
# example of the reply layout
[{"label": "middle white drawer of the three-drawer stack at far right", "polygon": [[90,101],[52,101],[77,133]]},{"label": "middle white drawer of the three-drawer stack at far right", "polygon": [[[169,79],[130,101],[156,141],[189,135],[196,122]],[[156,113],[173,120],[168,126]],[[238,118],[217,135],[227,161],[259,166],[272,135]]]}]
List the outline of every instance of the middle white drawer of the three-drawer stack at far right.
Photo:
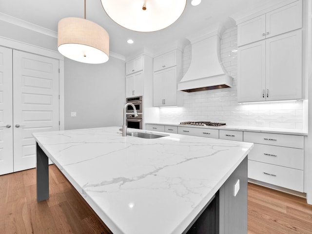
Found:
[{"label": "middle white drawer of the three-drawer stack at far right", "polygon": [[304,169],[303,149],[254,144],[248,159],[294,169]]}]

